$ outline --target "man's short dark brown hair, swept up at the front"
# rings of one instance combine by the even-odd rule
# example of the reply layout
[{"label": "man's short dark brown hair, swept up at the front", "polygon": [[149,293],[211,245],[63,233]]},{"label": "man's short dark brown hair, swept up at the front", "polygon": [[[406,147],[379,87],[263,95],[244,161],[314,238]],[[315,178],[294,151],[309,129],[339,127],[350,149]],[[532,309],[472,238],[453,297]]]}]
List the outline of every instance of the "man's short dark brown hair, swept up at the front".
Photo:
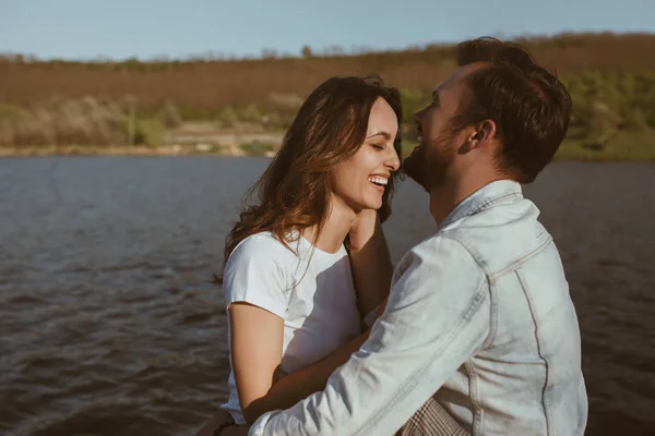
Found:
[{"label": "man's short dark brown hair, swept up at the front", "polygon": [[571,119],[571,96],[556,74],[514,43],[496,38],[457,46],[457,64],[488,65],[466,76],[468,96],[453,120],[457,126],[492,120],[501,170],[529,183],[552,160]]}]

